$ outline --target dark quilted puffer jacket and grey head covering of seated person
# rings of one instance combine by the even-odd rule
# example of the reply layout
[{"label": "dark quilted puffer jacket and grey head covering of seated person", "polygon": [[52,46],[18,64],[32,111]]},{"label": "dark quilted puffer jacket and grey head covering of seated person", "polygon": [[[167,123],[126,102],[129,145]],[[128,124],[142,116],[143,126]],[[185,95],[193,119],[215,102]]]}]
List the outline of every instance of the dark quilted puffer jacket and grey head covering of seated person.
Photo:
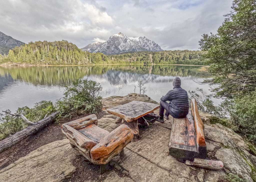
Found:
[{"label": "dark quilted puffer jacket and grey head covering of seated person", "polygon": [[173,90],[170,90],[165,96],[161,98],[162,101],[170,101],[168,112],[174,118],[185,118],[188,114],[189,103],[188,93],[180,87],[180,79],[175,78]]}]

